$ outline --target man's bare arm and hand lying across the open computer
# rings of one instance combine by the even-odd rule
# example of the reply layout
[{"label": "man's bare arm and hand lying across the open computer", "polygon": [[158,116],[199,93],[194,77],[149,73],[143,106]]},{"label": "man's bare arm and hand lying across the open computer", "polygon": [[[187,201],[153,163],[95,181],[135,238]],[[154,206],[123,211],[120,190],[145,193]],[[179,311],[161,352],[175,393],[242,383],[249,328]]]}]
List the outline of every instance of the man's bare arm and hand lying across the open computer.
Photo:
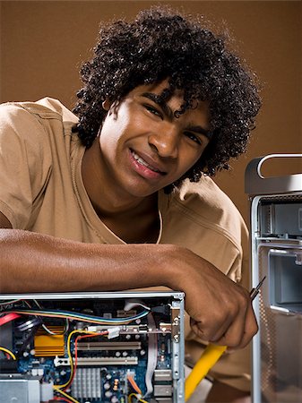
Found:
[{"label": "man's bare arm and hand lying across the open computer", "polygon": [[177,245],[84,244],[12,229],[0,214],[0,292],[109,291],[167,286],[186,293],[193,330],[245,347],[257,325],[248,292]]}]

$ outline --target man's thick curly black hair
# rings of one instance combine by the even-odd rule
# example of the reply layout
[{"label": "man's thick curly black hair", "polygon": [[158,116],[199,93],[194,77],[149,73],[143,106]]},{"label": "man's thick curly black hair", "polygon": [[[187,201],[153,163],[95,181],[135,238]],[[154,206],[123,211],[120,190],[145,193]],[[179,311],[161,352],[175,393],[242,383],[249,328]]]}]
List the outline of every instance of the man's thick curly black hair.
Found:
[{"label": "man's thick curly black hair", "polygon": [[229,159],[246,151],[261,100],[255,74],[227,47],[228,34],[214,34],[203,25],[202,16],[167,6],[144,10],[131,22],[103,24],[94,57],[82,64],[84,86],[73,109],[82,144],[90,147],[97,136],[107,113],[101,107],[105,99],[119,102],[139,85],[168,79],[162,97],[177,89],[184,94],[177,116],[195,100],[207,100],[213,132],[201,159],[177,184],[228,169]]}]

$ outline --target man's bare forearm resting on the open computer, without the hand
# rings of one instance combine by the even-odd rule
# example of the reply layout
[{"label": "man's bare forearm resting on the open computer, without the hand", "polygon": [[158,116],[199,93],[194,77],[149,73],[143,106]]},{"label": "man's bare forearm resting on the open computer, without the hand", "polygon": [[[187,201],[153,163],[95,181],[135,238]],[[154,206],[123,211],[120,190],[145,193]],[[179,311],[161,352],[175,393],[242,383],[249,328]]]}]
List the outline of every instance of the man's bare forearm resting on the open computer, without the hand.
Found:
[{"label": "man's bare forearm resting on the open computer, without the hand", "polygon": [[170,287],[164,261],[177,248],[83,244],[14,229],[1,229],[0,242],[2,293]]}]

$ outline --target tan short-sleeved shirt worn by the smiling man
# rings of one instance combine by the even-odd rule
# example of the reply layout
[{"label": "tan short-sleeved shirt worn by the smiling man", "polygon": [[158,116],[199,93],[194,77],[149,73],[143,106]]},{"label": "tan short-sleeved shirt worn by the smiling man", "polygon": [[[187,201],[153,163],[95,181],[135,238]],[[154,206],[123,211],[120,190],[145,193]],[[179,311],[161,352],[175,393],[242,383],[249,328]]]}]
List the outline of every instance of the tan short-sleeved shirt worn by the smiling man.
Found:
[{"label": "tan short-sleeved shirt worn by the smiling man", "polygon": [[[13,228],[85,243],[125,244],[93,210],[82,183],[84,147],[77,122],[56,99],[0,106],[0,211]],[[104,193],[106,189],[104,189]],[[248,287],[246,225],[210,177],[159,193],[158,243],[180,244]],[[201,341],[201,340],[197,340]],[[186,352],[194,362],[201,344],[187,327]],[[224,356],[212,374],[249,390],[249,354]]]}]

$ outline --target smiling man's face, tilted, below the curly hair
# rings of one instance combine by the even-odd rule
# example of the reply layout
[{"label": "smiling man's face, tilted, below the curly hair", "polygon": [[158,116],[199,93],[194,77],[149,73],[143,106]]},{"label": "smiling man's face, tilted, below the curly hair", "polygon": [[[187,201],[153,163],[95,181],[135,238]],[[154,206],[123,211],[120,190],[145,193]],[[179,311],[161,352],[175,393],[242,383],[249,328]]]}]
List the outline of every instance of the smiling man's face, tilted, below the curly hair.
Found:
[{"label": "smiling man's face, tilted, below the curly hair", "polygon": [[[116,107],[108,104],[99,135],[101,160],[111,184],[135,196],[147,196],[172,184],[194,165],[208,144],[209,109],[196,102],[179,117],[180,91],[167,103],[159,96],[168,81],[142,85]],[[106,105],[106,104],[105,104]]]}]

